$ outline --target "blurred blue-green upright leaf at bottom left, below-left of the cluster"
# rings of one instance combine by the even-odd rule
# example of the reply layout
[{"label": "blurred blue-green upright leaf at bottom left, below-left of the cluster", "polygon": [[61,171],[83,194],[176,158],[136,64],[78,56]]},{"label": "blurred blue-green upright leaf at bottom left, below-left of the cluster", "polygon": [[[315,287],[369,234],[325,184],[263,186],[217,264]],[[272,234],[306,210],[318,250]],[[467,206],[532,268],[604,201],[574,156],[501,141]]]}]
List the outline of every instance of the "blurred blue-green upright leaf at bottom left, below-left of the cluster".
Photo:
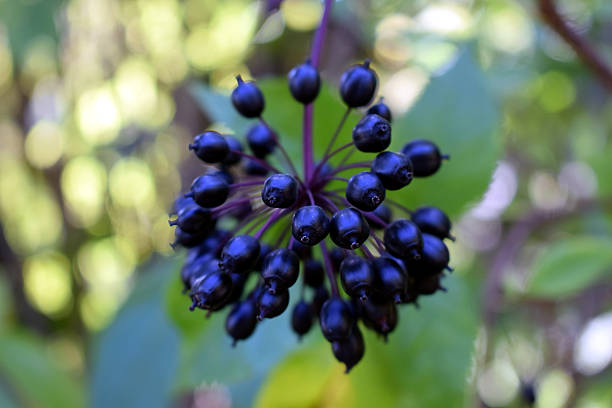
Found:
[{"label": "blurred blue-green upright leaf at bottom left, below-left of the cluster", "polygon": [[94,407],[165,407],[178,363],[178,336],[164,295],[176,267],[157,260],[146,270],[93,352]]}]

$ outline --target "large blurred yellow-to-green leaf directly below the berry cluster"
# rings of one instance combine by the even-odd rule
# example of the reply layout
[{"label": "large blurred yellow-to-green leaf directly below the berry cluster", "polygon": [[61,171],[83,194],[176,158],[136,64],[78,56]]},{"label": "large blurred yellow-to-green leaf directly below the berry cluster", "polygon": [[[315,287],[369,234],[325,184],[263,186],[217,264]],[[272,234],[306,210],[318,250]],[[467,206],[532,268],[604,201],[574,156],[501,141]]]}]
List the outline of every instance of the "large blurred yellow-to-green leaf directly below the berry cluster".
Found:
[{"label": "large blurred yellow-to-green leaf directly below the berry cluster", "polygon": [[[266,378],[259,406],[462,406],[479,323],[477,291],[456,275],[444,284],[448,293],[401,309],[388,343],[366,331],[365,356],[348,375],[329,344],[294,351]],[[298,392],[292,381],[306,389],[303,399],[289,398]]]}]

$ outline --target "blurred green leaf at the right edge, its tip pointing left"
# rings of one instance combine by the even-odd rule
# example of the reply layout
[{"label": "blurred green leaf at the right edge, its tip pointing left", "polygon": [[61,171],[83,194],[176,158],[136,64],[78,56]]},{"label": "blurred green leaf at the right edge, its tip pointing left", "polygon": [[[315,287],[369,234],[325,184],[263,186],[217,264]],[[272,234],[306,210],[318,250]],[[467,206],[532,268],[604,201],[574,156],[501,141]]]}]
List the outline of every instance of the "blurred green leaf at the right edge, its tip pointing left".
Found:
[{"label": "blurred green leaf at the right edge, its tip pointing left", "polygon": [[612,239],[574,237],[551,244],[532,267],[531,296],[560,300],[612,275]]}]

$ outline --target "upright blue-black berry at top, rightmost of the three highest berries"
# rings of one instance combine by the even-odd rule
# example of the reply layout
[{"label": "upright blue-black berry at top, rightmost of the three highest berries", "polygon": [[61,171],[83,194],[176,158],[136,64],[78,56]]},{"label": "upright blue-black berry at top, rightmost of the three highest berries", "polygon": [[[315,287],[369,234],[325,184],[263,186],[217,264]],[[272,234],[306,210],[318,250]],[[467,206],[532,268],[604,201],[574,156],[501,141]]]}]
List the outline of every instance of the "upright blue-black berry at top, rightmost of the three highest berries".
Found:
[{"label": "upright blue-black berry at top, rightmost of the three highest berries", "polygon": [[376,92],[378,77],[370,69],[370,60],[354,65],[340,77],[340,96],[347,106],[358,108],[370,103]]}]

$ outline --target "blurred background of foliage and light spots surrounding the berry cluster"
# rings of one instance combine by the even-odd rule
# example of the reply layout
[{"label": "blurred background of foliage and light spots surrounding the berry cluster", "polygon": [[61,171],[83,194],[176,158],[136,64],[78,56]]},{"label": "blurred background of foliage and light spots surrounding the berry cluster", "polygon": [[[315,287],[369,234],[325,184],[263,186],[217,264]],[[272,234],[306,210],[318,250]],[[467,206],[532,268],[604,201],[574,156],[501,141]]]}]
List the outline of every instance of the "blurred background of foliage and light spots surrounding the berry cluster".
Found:
[{"label": "blurred background of foliage and light spots surrounding the berry cluster", "polygon": [[[610,89],[536,3],[335,2],[316,148],[340,74],[371,57],[394,147],[452,156],[397,198],[439,204],[458,237],[448,293],[404,310],[388,344],[367,337],[346,376],[286,317],[233,349],[224,316],[188,312],[168,245],[202,172],[189,140],[244,134],[236,74],[261,80],[299,157],[284,77],[321,3],[0,0],[0,406],[612,406]],[[557,6],[612,64],[612,4]]]}]

